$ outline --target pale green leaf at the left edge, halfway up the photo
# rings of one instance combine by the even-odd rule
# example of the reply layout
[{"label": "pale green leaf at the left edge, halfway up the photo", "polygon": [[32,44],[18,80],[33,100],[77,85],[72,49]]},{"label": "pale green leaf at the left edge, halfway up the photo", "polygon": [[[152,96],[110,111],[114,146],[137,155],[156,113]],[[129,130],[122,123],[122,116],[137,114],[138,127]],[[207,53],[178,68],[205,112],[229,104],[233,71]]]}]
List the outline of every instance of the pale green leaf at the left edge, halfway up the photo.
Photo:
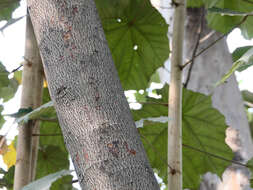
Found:
[{"label": "pale green leaf at the left edge, halfway up the photo", "polygon": [[18,87],[18,82],[15,79],[8,78],[9,74],[0,62],[0,99],[3,98],[4,102],[14,96]]}]

